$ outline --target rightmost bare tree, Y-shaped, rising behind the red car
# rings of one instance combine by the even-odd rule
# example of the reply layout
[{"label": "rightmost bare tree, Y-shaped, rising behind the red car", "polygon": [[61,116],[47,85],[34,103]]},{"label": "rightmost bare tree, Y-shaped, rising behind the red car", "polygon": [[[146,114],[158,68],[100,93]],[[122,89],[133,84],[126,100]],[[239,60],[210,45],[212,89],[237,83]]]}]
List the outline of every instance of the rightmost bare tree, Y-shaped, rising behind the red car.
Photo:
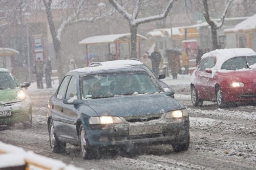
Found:
[{"label": "rightmost bare tree, Y-shaped, rising behind the red car", "polygon": [[221,22],[216,22],[212,19],[209,15],[209,8],[208,8],[208,0],[203,0],[204,6],[204,17],[211,29],[211,39],[212,39],[212,49],[216,50],[218,48],[218,39],[217,39],[217,30],[220,29],[225,21],[225,16],[227,14],[227,10],[233,0],[228,0],[224,12],[221,16]]}]

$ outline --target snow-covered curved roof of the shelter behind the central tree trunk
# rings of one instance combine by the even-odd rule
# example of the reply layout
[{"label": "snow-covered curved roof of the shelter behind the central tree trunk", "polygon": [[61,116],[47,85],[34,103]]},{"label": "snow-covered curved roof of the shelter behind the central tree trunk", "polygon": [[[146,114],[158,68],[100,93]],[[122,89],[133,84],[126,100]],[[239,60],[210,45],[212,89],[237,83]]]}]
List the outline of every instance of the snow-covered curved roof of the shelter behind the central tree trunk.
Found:
[{"label": "snow-covered curved roof of the shelter behind the central tree trunk", "polygon": [[[146,40],[147,38],[137,34],[137,41]],[[113,42],[130,42],[131,34],[110,34],[110,35],[98,35],[88,37],[79,42],[79,44],[99,44],[99,43],[113,43]]]}]

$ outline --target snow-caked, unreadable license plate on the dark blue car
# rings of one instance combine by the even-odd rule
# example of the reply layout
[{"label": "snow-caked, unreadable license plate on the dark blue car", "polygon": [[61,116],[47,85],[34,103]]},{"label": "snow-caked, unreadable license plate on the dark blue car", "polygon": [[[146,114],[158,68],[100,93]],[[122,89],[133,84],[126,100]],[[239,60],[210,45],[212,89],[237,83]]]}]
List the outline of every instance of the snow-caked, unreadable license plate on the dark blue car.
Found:
[{"label": "snow-caked, unreadable license plate on the dark blue car", "polygon": [[160,125],[141,125],[129,127],[129,135],[146,135],[146,134],[155,134],[162,133],[162,126]]}]

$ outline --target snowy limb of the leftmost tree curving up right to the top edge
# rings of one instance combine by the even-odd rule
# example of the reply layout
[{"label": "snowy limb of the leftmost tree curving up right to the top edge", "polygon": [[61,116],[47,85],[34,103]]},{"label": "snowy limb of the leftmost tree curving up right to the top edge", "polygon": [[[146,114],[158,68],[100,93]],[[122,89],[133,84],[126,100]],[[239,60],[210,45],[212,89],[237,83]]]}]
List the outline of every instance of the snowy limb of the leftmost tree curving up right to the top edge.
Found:
[{"label": "snowy limb of the leftmost tree curving up right to the top edge", "polygon": [[66,29],[66,27],[70,24],[71,21],[73,21],[80,13],[82,5],[84,3],[84,0],[80,0],[78,6],[77,6],[77,10],[71,15],[69,16],[65,21],[63,21],[58,29],[57,32],[57,39],[60,41],[61,40],[61,36],[63,31]]}]

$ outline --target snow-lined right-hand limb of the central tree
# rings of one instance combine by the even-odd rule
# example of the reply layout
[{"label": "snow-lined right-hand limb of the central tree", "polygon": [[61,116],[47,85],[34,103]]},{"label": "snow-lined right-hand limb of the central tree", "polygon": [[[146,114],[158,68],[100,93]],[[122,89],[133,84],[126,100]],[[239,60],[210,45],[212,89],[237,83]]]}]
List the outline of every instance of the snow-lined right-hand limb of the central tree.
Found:
[{"label": "snow-lined right-hand limb of the central tree", "polygon": [[177,1],[177,0],[170,0],[162,14],[136,19],[135,20],[136,24],[139,25],[141,23],[151,22],[154,20],[160,20],[160,19],[165,18],[167,16],[167,14],[169,13],[170,9],[173,7],[173,4],[175,1]]}]

